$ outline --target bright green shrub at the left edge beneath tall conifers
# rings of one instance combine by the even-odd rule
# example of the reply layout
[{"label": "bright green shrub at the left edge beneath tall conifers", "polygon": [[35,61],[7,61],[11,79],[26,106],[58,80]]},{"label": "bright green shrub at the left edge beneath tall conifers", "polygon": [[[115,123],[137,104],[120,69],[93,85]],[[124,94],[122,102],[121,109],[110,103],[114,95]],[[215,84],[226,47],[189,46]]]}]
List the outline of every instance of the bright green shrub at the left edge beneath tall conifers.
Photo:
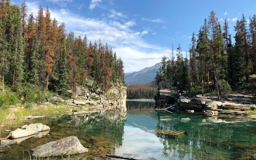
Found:
[{"label": "bright green shrub at the left edge beneath tall conifers", "polygon": [[6,92],[3,96],[0,95],[0,107],[7,107],[17,103],[20,103],[20,100],[16,97],[14,92]]}]

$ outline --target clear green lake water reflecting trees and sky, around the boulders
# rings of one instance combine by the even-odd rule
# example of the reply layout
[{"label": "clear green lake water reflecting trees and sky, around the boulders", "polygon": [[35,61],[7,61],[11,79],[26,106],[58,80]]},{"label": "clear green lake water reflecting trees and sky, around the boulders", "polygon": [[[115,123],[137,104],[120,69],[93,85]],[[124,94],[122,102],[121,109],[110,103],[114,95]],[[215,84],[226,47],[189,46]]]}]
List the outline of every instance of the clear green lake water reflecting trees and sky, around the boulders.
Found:
[{"label": "clear green lake water reflecting trees and sky, around the boulders", "polygon": [[[153,105],[152,101],[127,101],[126,113],[95,113],[89,115],[88,120],[83,114],[33,119],[33,123],[49,125],[50,136],[31,137],[20,145],[1,148],[7,153],[0,153],[0,159],[22,159],[27,156],[26,149],[68,136],[77,136],[89,150],[87,154],[76,155],[77,159],[102,159],[106,154],[161,160],[256,158],[256,122],[253,119],[162,113],[148,109]],[[186,131],[186,134],[165,138],[162,134],[145,132],[156,128]]]}]

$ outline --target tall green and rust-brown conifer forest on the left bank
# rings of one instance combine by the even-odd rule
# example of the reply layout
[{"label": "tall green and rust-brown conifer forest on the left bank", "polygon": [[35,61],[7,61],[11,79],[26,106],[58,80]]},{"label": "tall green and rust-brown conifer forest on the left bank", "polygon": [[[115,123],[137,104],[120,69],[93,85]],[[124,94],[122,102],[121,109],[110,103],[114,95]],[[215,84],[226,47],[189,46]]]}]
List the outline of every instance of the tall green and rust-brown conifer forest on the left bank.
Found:
[{"label": "tall green and rust-brown conifer forest on the left bank", "polygon": [[84,86],[88,79],[107,91],[124,81],[123,61],[107,43],[67,34],[65,22],[59,24],[51,19],[48,7],[27,13],[25,1],[21,7],[11,5],[10,0],[0,2],[3,94],[12,91],[26,99],[31,92],[50,90],[63,95],[68,89],[75,92],[76,86]]}]

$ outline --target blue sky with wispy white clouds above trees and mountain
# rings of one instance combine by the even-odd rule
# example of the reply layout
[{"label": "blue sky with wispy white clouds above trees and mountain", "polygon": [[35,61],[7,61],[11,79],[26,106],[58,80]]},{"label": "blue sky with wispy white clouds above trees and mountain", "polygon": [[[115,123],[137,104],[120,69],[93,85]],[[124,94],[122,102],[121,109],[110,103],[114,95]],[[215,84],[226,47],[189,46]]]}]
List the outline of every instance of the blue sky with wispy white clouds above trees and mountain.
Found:
[{"label": "blue sky with wispy white clouds above trees and mountain", "polygon": [[[13,0],[19,6],[23,0]],[[198,34],[204,19],[214,11],[221,26],[227,17],[234,36],[236,20],[242,13],[256,14],[255,0],[26,0],[28,15],[47,5],[58,24],[66,23],[67,33],[86,35],[116,52],[124,61],[125,73],[139,71],[170,57],[172,44],[180,43],[183,55],[191,35]]]}]

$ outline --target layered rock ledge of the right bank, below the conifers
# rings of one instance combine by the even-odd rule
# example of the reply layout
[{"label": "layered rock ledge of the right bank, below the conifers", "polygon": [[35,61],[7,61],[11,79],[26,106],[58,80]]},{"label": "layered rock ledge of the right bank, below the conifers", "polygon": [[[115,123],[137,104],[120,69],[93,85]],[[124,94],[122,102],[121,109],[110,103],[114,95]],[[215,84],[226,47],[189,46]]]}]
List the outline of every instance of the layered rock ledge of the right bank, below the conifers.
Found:
[{"label": "layered rock ledge of the right bank, below the conifers", "polygon": [[256,114],[254,95],[244,92],[229,92],[218,99],[215,94],[193,96],[191,93],[177,94],[170,88],[160,90],[156,108],[202,112],[207,115],[251,116]]}]

